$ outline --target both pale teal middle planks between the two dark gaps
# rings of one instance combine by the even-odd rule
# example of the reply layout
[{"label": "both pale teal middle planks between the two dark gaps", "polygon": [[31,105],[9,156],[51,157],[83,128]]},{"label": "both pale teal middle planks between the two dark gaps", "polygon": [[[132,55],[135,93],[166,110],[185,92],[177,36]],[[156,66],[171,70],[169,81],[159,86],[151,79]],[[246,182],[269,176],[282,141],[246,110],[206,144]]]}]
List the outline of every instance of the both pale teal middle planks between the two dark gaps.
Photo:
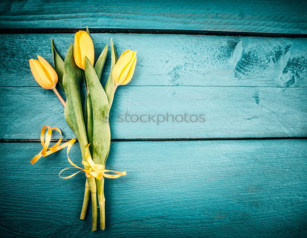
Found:
[{"label": "both pale teal middle planks between the two dark gaps", "polygon": [[[92,34],[97,55],[111,36],[114,35]],[[0,138],[39,138],[40,128],[45,124],[58,126],[65,138],[74,137],[57,98],[52,91],[38,86],[28,66],[28,59],[37,54],[52,62],[50,38],[54,38],[64,56],[73,35],[0,38],[3,42],[0,56],[5,62],[0,66]],[[137,49],[138,65],[131,83],[116,91],[111,111],[113,138],[307,134],[306,39],[119,34],[114,41],[118,52]],[[108,72],[109,61],[103,83]],[[160,125],[157,120],[118,123],[118,115],[125,113],[204,114],[206,121],[171,122],[169,117],[169,122]]]}]

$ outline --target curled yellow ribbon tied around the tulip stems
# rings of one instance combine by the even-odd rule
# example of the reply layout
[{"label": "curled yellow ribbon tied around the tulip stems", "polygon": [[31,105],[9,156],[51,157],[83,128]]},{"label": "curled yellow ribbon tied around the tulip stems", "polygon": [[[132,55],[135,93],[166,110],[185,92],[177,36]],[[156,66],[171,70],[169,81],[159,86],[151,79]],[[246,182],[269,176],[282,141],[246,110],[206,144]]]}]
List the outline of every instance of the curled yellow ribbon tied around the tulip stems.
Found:
[{"label": "curled yellow ribbon tied around the tulip stems", "polygon": [[[45,138],[45,132],[46,132],[47,128],[48,128],[48,131],[46,133],[46,138]],[[55,145],[53,145],[52,147],[48,148],[49,143],[50,143],[50,139],[51,139],[52,130],[56,130],[56,131],[60,132],[61,137],[58,140],[58,142],[56,142]],[[117,171],[107,170],[107,169],[105,169],[104,165],[94,163],[94,161],[92,160],[91,155],[89,153],[89,149],[88,149],[89,144],[87,145],[87,148],[86,148],[86,151],[85,151],[85,157],[86,157],[87,161],[82,161],[82,164],[84,166],[88,166],[89,169],[80,168],[79,166],[74,164],[69,159],[69,157],[68,157],[69,150],[72,147],[72,145],[76,142],[76,140],[75,139],[71,139],[68,142],[60,145],[61,142],[62,142],[62,132],[61,132],[60,129],[58,129],[56,127],[51,128],[50,126],[46,126],[46,125],[43,126],[43,128],[41,129],[41,144],[43,146],[43,149],[41,150],[41,152],[39,152],[37,155],[35,155],[33,159],[31,159],[30,163],[34,164],[39,158],[41,158],[41,156],[45,157],[47,155],[52,154],[53,152],[59,151],[59,150],[65,148],[65,147],[67,147],[67,159],[68,159],[68,162],[72,166],[80,169],[80,171],[78,171],[78,172],[76,172],[76,173],[74,173],[72,175],[69,175],[67,177],[62,177],[62,176],[60,176],[60,174],[64,170],[67,170],[67,169],[70,169],[70,168],[62,169],[61,172],[59,173],[60,178],[69,179],[69,178],[75,176],[76,174],[78,174],[78,173],[80,173],[82,171],[85,172],[86,177],[88,177],[88,178],[95,177],[96,179],[99,179],[99,180],[102,179],[102,177],[106,177],[106,178],[110,178],[110,179],[115,179],[115,178],[118,178],[118,177],[120,177],[122,175],[126,175],[126,171],[117,172]],[[106,174],[105,172],[113,172],[116,175],[109,175],[109,174]]]}]

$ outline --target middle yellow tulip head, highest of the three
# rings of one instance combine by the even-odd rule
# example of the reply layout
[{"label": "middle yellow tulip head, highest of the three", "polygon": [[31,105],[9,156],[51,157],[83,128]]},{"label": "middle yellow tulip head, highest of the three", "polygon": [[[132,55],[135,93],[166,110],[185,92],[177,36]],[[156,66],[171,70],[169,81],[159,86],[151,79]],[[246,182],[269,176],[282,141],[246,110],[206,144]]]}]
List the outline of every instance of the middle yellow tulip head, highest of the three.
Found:
[{"label": "middle yellow tulip head, highest of the three", "polygon": [[74,59],[81,69],[85,67],[85,56],[94,64],[94,44],[91,36],[86,31],[78,31],[75,34]]}]

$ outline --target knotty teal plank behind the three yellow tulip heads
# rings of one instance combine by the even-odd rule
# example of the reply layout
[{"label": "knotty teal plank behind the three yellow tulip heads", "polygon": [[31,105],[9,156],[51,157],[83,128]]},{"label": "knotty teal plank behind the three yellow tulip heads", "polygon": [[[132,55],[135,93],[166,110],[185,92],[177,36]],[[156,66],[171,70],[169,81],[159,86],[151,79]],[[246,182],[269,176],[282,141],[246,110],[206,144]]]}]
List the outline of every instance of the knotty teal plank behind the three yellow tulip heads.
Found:
[{"label": "knotty teal plank behind the three yellow tulip heads", "polygon": [[[159,34],[91,34],[96,59],[113,37],[118,55],[138,51],[129,85],[307,86],[307,39]],[[52,62],[50,39],[64,58],[73,34],[0,35],[0,86],[38,86],[28,59]],[[103,85],[110,71],[110,52]]]}]

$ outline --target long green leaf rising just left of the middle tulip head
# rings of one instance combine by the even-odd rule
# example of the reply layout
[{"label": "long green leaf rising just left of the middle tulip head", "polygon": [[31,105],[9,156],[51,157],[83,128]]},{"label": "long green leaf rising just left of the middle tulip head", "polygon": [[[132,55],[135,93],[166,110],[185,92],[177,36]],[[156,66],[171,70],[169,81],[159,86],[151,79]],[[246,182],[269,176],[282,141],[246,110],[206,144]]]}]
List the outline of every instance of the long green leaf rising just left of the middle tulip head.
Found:
[{"label": "long green leaf rising just left of the middle tulip head", "polygon": [[67,124],[78,139],[83,160],[86,160],[87,136],[80,100],[80,83],[82,78],[82,71],[75,63],[73,46],[71,44],[64,60],[63,88],[67,99],[64,114]]}]

